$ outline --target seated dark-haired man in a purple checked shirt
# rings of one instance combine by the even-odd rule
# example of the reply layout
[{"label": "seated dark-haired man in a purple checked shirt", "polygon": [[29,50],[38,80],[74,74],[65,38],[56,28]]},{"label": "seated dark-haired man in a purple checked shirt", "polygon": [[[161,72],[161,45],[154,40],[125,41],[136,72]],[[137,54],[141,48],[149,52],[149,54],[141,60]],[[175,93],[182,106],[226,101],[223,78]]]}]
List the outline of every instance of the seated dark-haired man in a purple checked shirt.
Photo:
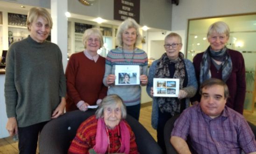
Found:
[{"label": "seated dark-haired man in a purple checked shirt", "polygon": [[[219,79],[205,80],[201,101],[175,121],[171,144],[179,154],[256,154],[254,134],[244,117],[225,106],[228,87]],[[189,149],[186,142],[189,136]],[[192,152],[190,151],[192,150]]]}]

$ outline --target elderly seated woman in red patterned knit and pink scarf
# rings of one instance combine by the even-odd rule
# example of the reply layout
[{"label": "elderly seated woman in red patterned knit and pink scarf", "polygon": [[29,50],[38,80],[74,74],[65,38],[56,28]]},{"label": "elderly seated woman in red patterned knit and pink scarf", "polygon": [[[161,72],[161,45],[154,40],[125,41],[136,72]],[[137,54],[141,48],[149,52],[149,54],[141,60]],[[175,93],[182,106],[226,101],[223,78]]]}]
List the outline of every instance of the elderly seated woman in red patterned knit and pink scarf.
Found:
[{"label": "elderly seated woman in red patterned knit and pink scarf", "polygon": [[124,120],[126,115],[126,107],[118,95],[106,96],[95,115],[79,126],[68,154],[90,154],[93,151],[138,154],[135,135]]}]

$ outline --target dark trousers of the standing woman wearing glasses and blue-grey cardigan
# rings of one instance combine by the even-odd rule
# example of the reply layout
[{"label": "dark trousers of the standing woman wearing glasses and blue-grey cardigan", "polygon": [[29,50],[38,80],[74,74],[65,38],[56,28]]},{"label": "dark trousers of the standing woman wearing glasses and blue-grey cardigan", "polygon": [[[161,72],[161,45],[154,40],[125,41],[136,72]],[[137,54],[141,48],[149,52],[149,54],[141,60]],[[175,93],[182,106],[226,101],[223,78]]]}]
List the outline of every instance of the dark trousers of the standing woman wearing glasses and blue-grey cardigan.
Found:
[{"label": "dark trousers of the standing woman wearing glasses and blue-grey cardigan", "polygon": [[[164,154],[166,154],[166,148],[164,144],[164,125],[166,121],[171,118],[171,114],[164,112],[162,113],[158,108],[158,124],[157,124],[157,144],[162,148]],[[171,136],[170,136],[171,138]]]}]

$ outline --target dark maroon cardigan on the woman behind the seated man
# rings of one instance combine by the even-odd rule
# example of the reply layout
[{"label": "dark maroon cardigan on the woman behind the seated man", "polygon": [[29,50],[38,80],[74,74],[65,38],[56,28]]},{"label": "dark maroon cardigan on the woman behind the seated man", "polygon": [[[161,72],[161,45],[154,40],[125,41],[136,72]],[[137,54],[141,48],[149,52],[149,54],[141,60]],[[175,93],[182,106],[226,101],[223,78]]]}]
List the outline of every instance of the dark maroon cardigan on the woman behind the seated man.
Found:
[{"label": "dark maroon cardigan on the woman behind the seated man", "polygon": [[[228,54],[232,60],[232,73],[228,78],[226,84],[228,85],[229,91],[229,98],[227,100],[227,106],[233,108],[235,111],[239,112],[240,114],[243,113],[243,104],[245,99],[245,91],[246,91],[246,81],[245,81],[245,65],[244,59],[240,52],[228,49]],[[198,80],[198,87],[200,88],[199,83],[199,75],[200,75],[200,64],[202,61],[203,53],[197,54],[193,58],[193,65],[195,67],[195,73]],[[222,79],[221,73],[222,70],[219,72],[217,71],[214,64],[211,62],[210,66],[212,78]],[[199,95],[199,88],[197,94],[192,97],[190,100],[199,101],[200,102],[200,95]]]}]

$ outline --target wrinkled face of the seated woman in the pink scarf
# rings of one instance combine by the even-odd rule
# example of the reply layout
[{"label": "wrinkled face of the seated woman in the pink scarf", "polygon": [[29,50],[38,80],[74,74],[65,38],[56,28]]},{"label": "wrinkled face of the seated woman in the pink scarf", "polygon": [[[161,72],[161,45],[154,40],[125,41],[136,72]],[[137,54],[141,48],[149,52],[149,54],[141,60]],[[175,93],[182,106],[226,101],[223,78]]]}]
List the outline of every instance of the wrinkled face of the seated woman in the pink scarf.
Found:
[{"label": "wrinkled face of the seated woman in the pink scarf", "polygon": [[104,108],[104,122],[107,127],[114,129],[121,121],[121,103]]}]

